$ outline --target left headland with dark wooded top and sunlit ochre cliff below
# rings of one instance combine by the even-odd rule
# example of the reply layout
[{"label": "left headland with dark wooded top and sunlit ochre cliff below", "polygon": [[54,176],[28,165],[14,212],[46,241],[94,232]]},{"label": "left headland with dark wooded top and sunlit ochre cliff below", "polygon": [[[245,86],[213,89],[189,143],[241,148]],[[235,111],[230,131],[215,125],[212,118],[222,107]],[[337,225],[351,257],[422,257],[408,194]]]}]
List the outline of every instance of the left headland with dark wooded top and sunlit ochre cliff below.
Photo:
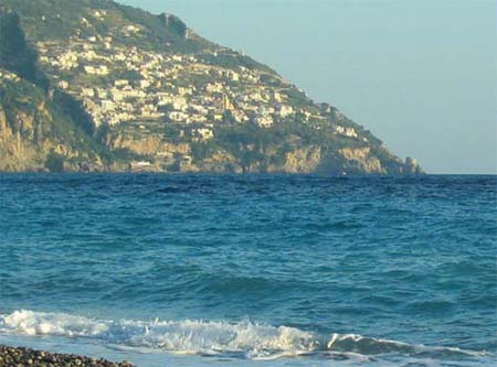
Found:
[{"label": "left headland with dark wooded top and sunlit ochre cliff below", "polygon": [[19,15],[0,11],[0,171],[50,171],[54,159],[66,170],[101,165],[88,138],[54,104],[36,57]]}]

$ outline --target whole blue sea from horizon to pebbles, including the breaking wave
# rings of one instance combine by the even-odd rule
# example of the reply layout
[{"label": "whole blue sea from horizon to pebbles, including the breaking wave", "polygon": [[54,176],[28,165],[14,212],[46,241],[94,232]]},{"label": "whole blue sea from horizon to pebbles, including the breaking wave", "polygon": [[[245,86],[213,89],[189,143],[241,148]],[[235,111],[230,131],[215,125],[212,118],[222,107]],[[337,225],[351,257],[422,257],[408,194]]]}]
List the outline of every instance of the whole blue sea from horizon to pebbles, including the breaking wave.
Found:
[{"label": "whole blue sea from horizon to pebbles, including the breaking wave", "polygon": [[0,175],[0,344],[497,364],[497,176]]}]

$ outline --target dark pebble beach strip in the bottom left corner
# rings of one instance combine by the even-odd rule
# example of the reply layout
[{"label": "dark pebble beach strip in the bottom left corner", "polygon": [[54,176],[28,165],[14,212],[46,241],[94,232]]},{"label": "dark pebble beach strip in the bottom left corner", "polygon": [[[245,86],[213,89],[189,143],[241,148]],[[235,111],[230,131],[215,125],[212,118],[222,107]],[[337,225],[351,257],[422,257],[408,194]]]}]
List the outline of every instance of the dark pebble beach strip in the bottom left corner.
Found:
[{"label": "dark pebble beach strip in the bottom left corner", "polygon": [[128,361],[113,363],[71,354],[57,354],[0,345],[0,367],[131,367]]}]

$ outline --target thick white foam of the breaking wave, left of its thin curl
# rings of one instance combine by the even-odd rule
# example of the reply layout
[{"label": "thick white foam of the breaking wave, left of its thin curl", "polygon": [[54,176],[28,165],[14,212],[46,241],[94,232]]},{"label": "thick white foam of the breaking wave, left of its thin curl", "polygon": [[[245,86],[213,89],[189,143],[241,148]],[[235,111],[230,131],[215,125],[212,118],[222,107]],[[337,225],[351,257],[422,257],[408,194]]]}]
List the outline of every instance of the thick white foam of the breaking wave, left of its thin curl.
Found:
[{"label": "thick white foam of the breaking wave, left of its thin curl", "polygon": [[0,316],[0,332],[99,338],[106,343],[179,353],[314,350],[316,338],[294,327],[203,321],[98,321],[61,313],[15,311]]}]

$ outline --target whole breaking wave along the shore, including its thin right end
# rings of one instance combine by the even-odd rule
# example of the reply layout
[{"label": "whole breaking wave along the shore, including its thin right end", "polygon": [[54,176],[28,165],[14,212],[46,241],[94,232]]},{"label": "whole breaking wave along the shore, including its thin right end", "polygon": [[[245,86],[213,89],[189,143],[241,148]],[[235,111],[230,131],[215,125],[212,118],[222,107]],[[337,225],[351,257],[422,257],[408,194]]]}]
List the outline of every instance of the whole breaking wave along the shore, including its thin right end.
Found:
[{"label": "whole breaking wave along the shore, including its thin right end", "polygon": [[178,354],[236,355],[250,359],[345,353],[383,354],[430,358],[470,358],[483,352],[429,347],[355,334],[324,335],[289,326],[243,321],[131,321],[94,320],[84,316],[15,311],[0,315],[0,333],[87,337],[114,347],[160,349]]}]

